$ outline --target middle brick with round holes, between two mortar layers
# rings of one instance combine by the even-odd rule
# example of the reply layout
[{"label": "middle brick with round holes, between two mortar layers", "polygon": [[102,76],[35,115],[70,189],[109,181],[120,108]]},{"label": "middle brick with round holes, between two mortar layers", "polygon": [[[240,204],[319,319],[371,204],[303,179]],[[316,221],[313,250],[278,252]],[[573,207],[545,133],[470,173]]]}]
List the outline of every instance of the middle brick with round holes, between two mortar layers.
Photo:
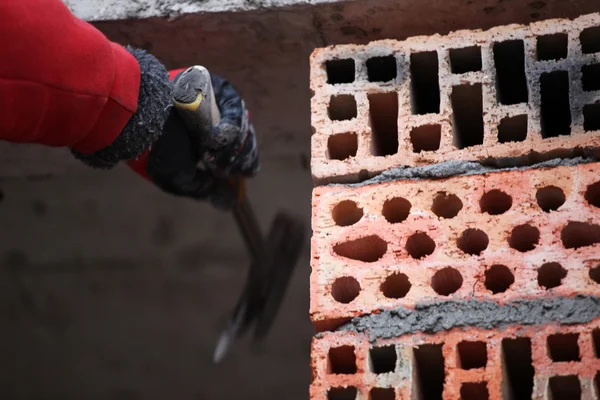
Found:
[{"label": "middle brick with round holes, between two mortar layers", "polygon": [[597,294],[600,163],[313,191],[311,319]]}]

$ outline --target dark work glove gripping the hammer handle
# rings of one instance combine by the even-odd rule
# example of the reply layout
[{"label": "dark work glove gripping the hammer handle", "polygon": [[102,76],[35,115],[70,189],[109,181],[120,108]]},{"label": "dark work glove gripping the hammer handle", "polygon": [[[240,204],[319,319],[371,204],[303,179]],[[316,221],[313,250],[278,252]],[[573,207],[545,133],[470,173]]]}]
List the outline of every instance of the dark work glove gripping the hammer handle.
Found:
[{"label": "dark work glove gripping the hammer handle", "polygon": [[[174,83],[182,72],[175,75]],[[171,107],[163,133],[150,149],[144,169],[167,193],[206,200],[221,210],[229,210],[236,204],[237,193],[212,171],[254,176],[260,168],[258,149],[244,101],[231,83],[221,77],[211,74],[211,83],[221,114],[218,125],[213,126],[208,137],[203,137],[200,132],[189,131],[177,109]],[[199,169],[200,161],[210,170]]]}]

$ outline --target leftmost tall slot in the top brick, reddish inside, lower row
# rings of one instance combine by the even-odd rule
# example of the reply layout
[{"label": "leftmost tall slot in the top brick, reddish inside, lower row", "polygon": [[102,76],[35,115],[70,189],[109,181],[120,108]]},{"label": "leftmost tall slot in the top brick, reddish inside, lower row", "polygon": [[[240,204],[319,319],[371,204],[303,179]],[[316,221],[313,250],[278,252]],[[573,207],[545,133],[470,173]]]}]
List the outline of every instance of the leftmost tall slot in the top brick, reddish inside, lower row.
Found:
[{"label": "leftmost tall slot in the top brick, reddish inside, lower row", "polygon": [[371,154],[398,153],[398,93],[373,93],[369,98]]}]

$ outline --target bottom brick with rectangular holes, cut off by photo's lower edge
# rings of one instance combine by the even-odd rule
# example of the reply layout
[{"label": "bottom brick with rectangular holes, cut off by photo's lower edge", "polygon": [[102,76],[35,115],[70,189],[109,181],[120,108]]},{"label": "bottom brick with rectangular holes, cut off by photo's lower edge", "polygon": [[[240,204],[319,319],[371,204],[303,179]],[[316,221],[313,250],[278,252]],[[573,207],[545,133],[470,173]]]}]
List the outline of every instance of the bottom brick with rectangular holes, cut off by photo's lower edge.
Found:
[{"label": "bottom brick with rectangular holes, cut off by photo's lower edge", "polygon": [[[370,343],[313,339],[312,400],[597,399],[600,320],[587,325],[454,329]],[[423,397],[419,396],[423,395]]]}]

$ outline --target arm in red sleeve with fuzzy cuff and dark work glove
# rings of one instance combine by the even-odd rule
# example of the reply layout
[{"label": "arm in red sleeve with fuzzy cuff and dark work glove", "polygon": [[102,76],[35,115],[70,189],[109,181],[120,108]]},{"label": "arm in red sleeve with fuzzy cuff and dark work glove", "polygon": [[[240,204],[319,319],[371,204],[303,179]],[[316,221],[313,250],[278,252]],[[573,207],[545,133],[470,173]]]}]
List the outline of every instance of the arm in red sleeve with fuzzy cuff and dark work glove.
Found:
[{"label": "arm in red sleeve with fuzzy cuff and dark work glove", "polygon": [[196,168],[204,154],[224,170],[258,171],[254,130],[228,82],[213,77],[223,120],[205,140],[177,118],[174,72],[111,42],[63,1],[0,1],[0,37],[11,38],[0,44],[0,59],[11,60],[0,62],[0,140],[67,147],[93,168],[127,162],[169,193],[219,207],[235,199]]}]

